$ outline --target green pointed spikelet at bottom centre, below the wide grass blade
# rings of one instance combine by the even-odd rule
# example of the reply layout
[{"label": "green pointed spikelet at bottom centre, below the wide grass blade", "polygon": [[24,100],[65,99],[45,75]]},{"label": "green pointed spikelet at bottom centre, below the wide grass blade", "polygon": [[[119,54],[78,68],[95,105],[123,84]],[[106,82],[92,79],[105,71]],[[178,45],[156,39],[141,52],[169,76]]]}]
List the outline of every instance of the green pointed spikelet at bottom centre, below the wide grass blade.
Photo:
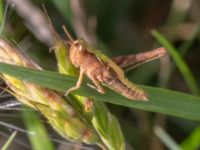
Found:
[{"label": "green pointed spikelet at bottom centre, below the wide grass blade", "polygon": [[92,123],[101,135],[103,142],[108,145],[109,150],[124,150],[124,138],[118,120],[113,116],[105,105],[94,102],[94,117]]}]

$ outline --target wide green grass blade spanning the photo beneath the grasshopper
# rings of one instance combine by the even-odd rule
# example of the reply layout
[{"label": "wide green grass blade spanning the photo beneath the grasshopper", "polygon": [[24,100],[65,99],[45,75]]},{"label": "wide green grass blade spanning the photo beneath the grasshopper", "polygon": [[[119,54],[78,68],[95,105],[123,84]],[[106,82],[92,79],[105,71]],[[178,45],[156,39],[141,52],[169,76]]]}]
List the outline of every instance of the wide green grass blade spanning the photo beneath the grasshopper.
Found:
[{"label": "wide green grass blade spanning the photo beneath the grasshopper", "polygon": [[[66,92],[77,81],[77,78],[61,75],[56,72],[31,70],[4,63],[0,63],[0,72],[62,92]],[[128,100],[108,88],[106,88],[106,94],[102,95],[96,92],[96,90],[86,86],[85,83],[74,93],[121,106],[200,120],[200,97],[197,96],[161,88],[142,86],[149,95],[149,102],[137,102]]]}]

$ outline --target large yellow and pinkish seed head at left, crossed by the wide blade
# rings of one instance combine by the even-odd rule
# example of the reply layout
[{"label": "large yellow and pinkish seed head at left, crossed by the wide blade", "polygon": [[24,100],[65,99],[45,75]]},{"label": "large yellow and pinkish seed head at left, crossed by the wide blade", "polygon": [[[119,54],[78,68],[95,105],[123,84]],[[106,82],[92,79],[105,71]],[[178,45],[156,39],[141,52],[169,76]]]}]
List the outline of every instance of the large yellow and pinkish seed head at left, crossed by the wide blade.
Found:
[{"label": "large yellow and pinkish seed head at left, crossed by the wide blade", "polygon": [[[0,38],[0,62],[32,69],[41,69],[36,63],[6,40]],[[101,143],[96,131],[81,118],[62,95],[30,82],[1,74],[11,93],[23,104],[39,110],[62,136],[88,144]]]}]

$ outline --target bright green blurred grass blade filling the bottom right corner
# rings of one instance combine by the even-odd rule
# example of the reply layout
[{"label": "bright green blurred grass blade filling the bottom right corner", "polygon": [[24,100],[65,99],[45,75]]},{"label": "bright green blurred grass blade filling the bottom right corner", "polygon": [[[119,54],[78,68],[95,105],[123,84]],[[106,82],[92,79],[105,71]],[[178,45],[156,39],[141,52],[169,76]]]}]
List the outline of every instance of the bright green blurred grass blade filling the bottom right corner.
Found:
[{"label": "bright green blurred grass blade filling the bottom right corner", "polygon": [[200,147],[200,127],[197,127],[192,134],[181,144],[182,149],[191,150]]}]

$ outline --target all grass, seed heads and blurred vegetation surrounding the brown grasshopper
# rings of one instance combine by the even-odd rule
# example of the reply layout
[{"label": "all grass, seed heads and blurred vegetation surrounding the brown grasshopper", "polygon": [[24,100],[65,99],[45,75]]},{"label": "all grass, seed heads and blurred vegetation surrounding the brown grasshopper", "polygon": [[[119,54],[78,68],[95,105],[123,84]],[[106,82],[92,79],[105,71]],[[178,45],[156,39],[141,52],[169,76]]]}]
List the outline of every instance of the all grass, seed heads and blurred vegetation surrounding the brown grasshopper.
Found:
[{"label": "all grass, seed heads and blurred vegetation surrounding the brown grasshopper", "polygon": [[[10,88],[2,82],[0,147],[198,149],[199,7],[198,0],[0,0],[1,39],[14,43],[0,47],[1,77]],[[102,95],[86,85],[87,78],[64,97],[77,70],[66,59],[63,24],[110,58],[164,46],[168,56],[126,73],[149,102],[130,101],[108,88]],[[31,109],[11,101],[6,91]]]}]

